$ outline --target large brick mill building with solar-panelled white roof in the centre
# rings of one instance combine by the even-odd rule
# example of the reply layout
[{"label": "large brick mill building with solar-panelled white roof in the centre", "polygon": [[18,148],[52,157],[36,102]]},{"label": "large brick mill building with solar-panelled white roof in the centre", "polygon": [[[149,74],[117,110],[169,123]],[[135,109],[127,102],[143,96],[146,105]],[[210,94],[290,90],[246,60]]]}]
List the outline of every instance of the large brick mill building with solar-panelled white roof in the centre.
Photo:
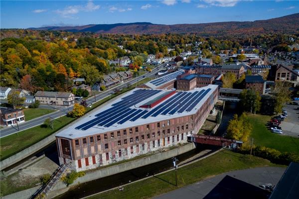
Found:
[{"label": "large brick mill building with solar-panelled white roof in the centre", "polygon": [[217,99],[216,85],[187,92],[134,89],[55,135],[60,164],[70,161],[83,171],[187,142]]}]

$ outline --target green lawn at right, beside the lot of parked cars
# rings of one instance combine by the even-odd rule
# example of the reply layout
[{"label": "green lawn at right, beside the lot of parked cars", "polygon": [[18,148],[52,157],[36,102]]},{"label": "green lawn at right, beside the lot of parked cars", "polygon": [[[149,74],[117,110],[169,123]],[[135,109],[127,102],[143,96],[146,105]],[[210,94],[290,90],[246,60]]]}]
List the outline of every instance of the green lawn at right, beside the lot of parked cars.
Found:
[{"label": "green lawn at right, beside the lot of parked cars", "polygon": [[[253,125],[251,137],[254,138],[256,146],[265,146],[277,149],[281,152],[296,152],[299,154],[299,138],[279,135],[267,129],[267,121],[271,116],[248,114],[250,123]],[[249,141],[251,140],[248,139]]]}]

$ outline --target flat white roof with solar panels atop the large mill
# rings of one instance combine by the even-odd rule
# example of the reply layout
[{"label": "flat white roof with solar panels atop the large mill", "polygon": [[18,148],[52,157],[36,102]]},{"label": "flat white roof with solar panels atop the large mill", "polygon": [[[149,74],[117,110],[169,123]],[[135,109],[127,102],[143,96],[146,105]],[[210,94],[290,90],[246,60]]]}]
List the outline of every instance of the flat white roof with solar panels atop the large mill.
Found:
[{"label": "flat white roof with solar panels atop the large mill", "polygon": [[171,97],[161,100],[153,108],[140,106],[169,91],[134,89],[121,98],[84,115],[56,136],[73,139],[194,114],[217,87],[208,85],[192,91],[176,92]]}]

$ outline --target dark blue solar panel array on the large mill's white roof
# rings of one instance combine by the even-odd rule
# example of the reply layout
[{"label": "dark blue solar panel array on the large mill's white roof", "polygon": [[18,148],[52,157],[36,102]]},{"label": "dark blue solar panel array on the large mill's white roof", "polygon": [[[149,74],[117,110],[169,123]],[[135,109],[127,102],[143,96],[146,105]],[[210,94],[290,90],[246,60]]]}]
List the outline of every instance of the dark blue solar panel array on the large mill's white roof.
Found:
[{"label": "dark blue solar panel array on the large mill's white roof", "polygon": [[140,89],[122,98],[121,101],[112,104],[111,108],[96,114],[96,118],[77,126],[76,129],[87,130],[96,125],[109,127],[113,124],[123,124],[126,121],[136,121],[139,118],[156,117],[159,114],[173,115],[175,113],[182,113],[183,111],[191,111],[210,90],[203,89],[193,93],[178,92],[151,110],[130,108],[161,92],[161,90]]}]

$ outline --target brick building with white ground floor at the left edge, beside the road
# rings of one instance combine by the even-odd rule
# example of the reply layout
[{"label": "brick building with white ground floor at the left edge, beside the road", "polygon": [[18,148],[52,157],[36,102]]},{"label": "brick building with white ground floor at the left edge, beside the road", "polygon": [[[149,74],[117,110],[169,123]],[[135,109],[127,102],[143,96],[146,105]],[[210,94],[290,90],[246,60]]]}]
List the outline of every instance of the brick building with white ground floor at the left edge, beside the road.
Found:
[{"label": "brick building with white ground floor at the left edge, beside the road", "polygon": [[0,124],[5,126],[14,125],[25,121],[22,109],[0,107]]}]

